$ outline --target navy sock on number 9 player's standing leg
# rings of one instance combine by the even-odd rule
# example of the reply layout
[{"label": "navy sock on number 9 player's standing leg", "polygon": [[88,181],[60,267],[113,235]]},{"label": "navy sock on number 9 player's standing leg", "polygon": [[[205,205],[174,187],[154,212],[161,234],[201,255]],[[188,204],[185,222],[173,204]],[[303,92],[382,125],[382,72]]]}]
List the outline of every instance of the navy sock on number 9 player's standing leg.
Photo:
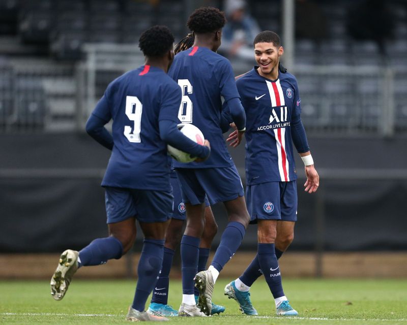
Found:
[{"label": "navy sock on number 9 player's standing leg", "polygon": [[132,307],[144,311],[146,301],[160,274],[164,256],[164,240],[144,239],[140,261],[138,261],[138,281]]}]

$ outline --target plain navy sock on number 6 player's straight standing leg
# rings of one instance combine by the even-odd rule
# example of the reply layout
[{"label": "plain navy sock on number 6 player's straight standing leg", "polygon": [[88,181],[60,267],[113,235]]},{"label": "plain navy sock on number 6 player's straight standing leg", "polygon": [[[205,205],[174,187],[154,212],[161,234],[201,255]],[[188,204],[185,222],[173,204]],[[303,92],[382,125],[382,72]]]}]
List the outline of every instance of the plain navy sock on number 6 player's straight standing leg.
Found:
[{"label": "plain navy sock on number 6 player's straight standing leg", "polygon": [[181,239],[181,270],[183,295],[194,294],[194,277],[198,270],[200,238],[184,235]]}]

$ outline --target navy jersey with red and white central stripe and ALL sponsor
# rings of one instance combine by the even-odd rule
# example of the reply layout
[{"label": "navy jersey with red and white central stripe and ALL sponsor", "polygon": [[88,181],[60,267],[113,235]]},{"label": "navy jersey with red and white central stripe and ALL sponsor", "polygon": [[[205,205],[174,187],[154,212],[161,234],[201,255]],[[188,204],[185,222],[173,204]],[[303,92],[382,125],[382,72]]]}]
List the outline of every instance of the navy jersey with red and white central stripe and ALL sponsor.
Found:
[{"label": "navy jersey with red and white central stripe and ALL sponsor", "polygon": [[247,184],[292,181],[297,179],[293,138],[296,146],[301,143],[301,149],[297,146],[299,151],[309,149],[300,118],[297,80],[289,73],[279,73],[277,80],[269,80],[260,76],[256,68],[236,82],[247,116]]}]

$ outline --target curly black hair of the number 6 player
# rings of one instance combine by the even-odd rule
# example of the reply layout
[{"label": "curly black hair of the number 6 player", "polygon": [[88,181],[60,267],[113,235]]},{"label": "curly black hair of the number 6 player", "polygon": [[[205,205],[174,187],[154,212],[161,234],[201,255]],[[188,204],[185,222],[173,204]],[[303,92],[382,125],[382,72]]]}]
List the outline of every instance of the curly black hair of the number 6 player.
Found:
[{"label": "curly black hair of the number 6 player", "polygon": [[225,23],[226,17],[222,11],[213,7],[202,7],[189,16],[187,26],[196,34],[204,34],[223,28]]}]

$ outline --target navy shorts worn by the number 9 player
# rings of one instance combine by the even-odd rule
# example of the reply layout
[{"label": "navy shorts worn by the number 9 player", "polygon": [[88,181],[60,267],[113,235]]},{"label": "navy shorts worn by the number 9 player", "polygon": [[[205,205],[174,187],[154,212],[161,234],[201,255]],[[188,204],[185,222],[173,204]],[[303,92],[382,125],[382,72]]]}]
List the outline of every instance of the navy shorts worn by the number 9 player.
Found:
[{"label": "navy shorts worn by the number 9 player", "polygon": [[165,222],[171,218],[171,192],[109,186],[105,190],[107,223],[131,217],[140,222]]}]

